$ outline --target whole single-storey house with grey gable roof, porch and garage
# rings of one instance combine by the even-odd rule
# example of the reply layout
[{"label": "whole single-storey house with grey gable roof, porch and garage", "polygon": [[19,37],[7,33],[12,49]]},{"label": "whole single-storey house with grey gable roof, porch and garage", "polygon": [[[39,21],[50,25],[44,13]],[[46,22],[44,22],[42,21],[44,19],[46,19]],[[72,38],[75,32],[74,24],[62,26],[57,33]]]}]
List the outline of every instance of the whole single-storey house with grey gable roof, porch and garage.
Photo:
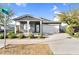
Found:
[{"label": "whole single-storey house with grey gable roof, porch and garage", "polygon": [[15,33],[22,32],[28,34],[41,33],[53,34],[60,32],[60,22],[53,22],[45,18],[37,18],[31,15],[24,15],[13,19],[15,21]]}]

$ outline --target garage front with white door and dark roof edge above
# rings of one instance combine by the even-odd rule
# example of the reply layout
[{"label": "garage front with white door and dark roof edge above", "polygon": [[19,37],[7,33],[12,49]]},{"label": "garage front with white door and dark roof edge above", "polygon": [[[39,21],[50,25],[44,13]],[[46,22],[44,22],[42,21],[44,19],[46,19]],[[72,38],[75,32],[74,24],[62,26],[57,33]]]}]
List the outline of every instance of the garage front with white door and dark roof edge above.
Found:
[{"label": "garage front with white door and dark roof edge above", "polygon": [[43,34],[59,33],[60,26],[60,22],[43,22]]}]

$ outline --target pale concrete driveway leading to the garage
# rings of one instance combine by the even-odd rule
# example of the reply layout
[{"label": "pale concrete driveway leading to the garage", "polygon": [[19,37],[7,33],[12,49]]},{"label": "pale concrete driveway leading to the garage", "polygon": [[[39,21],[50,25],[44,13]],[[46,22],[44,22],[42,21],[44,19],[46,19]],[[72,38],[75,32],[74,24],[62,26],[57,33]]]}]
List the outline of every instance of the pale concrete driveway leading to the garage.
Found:
[{"label": "pale concrete driveway leading to the garage", "polygon": [[55,34],[50,36],[47,42],[54,54],[79,54],[79,39],[72,38],[67,34]]}]

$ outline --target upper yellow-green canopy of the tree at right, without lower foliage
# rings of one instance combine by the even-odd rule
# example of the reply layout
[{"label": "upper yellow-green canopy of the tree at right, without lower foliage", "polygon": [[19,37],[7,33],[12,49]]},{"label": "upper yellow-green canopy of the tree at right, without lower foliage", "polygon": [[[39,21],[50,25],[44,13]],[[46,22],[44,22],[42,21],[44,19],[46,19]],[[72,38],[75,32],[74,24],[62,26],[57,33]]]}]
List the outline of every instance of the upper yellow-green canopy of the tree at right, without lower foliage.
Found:
[{"label": "upper yellow-green canopy of the tree at right, without lower foliage", "polygon": [[79,9],[68,10],[58,14],[60,21],[68,25],[79,25]]}]

